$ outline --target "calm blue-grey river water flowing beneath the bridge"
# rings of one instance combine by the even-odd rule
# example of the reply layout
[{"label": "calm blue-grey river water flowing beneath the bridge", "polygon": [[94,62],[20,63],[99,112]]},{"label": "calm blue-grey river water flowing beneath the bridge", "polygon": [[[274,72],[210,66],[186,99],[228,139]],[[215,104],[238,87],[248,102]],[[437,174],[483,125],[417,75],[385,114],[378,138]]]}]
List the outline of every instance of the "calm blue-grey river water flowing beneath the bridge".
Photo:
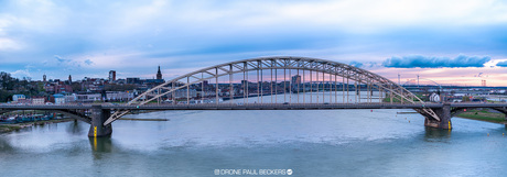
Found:
[{"label": "calm blue-grey river water flowing beneath the bridge", "polygon": [[109,139],[83,122],[40,125],[0,134],[0,176],[507,175],[505,125],[435,130],[397,112],[413,111],[163,111],[128,117],[170,121],[114,122]]}]

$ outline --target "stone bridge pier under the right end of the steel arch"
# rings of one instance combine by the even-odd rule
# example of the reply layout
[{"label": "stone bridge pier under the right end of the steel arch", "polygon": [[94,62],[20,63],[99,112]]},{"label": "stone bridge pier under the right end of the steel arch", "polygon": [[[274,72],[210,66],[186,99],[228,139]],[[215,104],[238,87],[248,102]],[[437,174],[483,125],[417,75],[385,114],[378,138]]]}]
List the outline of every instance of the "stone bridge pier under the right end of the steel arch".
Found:
[{"label": "stone bridge pier under the right end of the steel arch", "polygon": [[424,126],[451,130],[451,104],[444,103],[442,108],[433,108],[432,110],[439,115],[440,121],[425,117]]}]

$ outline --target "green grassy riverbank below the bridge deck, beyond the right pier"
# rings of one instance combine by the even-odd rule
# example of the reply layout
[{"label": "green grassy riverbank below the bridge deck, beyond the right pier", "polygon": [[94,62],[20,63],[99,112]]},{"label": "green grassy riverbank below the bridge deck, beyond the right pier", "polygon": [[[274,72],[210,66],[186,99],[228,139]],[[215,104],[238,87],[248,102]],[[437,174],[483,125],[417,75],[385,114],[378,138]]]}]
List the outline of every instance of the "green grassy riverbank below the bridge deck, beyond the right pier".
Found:
[{"label": "green grassy riverbank below the bridge deck, beyond the right pier", "polygon": [[457,118],[478,120],[492,123],[507,124],[504,113],[488,112],[487,110],[470,110],[456,115]]}]

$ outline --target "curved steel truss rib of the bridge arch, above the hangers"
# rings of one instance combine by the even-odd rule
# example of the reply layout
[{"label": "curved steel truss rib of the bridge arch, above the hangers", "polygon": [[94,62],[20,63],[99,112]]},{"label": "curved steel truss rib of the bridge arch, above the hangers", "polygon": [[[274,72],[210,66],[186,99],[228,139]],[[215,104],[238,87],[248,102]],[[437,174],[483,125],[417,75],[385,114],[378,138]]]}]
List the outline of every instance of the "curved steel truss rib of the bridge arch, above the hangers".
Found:
[{"label": "curved steel truss rib of the bridge arch, above the hangers", "polygon": [[[218,82],[218,78],[222,76],[233,76],[234,74],[238,73],[245,74],[252,70],[267,69],[301,69],[310,71],[320,71],[323,74],[352,79],[359,84],[370,85],[373,88],[376,88],[385,92],[389,92],[389,95],[391,96],[391,100],[392,96],[395,95],[395,97],[398,97],[398,99],[402,103],[424,103],[416,95],[404,89],[400,85],[362,68],[357,68],[338,62],[311,57],[276,56],[229,62],[199,69],[183,76],[179,76],[172,80],[165,81],[164,84],[161,84],[157,87],[147,90],[145,92],[139,95],[138,97],[129,101],[127,104],[142,106],[169,93],[174,93],[179,89],[188,88],[188,86],[202,82],[204,80],[216,79]],[[192,81],[190,80],[191,78],[193,79]],[[187,81],[180,82],[179,80],[182,79],[186,79]],[[431,109],[416,109],[416,111],[425,117],[430,117],[440,121],[440,118]],[[104,125],[110,124],[112,121],[119,119],[128,112],[129,110],[117,110],[104,123]]]}]

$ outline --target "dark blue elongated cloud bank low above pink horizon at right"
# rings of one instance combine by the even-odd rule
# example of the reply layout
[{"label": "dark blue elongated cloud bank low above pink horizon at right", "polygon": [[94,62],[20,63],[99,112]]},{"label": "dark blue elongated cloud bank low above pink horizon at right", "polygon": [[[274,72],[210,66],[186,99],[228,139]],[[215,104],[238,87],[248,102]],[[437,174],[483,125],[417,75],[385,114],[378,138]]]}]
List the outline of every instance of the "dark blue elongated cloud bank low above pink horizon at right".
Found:
[{"label": "dark blue elongated cloud bank low above pink horizon at right", "polygon": [[459,55],[455,58],[433,57],[422,55],[410,55],[403,57],[391,57],[384,60],[382,66],[393,68],[456,68],[456,67],[484,67],[489,62],[489,56],[465,56]]}]

